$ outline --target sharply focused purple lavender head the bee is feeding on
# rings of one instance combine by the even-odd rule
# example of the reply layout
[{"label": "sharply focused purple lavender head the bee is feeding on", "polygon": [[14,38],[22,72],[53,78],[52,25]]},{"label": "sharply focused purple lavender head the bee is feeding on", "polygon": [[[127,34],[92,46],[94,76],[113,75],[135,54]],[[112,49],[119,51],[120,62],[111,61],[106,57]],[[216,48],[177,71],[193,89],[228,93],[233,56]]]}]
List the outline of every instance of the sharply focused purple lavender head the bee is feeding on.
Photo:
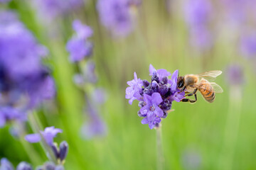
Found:
[{"label": "sharply focused purple lavender head the bee is feeding on", "polygon": [[[177,89],[178,70],[172,76],[166,69],[154,69],[150,64],[149,75],[151,81],[137,78],[127,81],[129,87],[126,89],[125,98],[132,104],[134,100],[139,101],[139,117],[143,117],[142,124],[149,124],[149,128],[158,127],[161,118],[166,118],[171,110],[173,101],[181,101],[185,93]],[[169,77],[171,76],[171,79]]]}]

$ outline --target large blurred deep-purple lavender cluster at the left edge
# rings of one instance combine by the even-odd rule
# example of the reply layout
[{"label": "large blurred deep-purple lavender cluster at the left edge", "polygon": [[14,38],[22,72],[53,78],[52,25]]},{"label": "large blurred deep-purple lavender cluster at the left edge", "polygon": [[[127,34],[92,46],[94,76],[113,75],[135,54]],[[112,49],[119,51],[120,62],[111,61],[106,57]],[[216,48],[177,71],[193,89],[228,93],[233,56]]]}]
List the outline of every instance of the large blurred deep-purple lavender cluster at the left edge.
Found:
[{"label": "large blurred deep-purple lavender cluster at the left edge", "polygon": [[15,13],[0,11],[1,126],[9,120],[26,120],[28,109],[53,98],[54,81],[41,62],[47,53]]}]

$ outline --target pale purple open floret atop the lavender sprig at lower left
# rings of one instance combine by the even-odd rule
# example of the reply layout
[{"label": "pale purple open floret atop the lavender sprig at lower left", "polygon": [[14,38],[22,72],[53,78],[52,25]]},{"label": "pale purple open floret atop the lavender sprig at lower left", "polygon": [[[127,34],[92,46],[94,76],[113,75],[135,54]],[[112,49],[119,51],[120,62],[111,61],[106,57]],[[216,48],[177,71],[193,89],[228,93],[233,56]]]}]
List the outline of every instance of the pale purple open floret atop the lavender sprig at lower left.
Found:
[{"label": "pale purple open floret atop the lavender sprig at lower left", "polygon": [[[48,127],[44,131],[40,131],[43,139],[50,146],[53,145],[53,138],[60,132],[63,132],[63,130],[54,128],[54,126]],[[39,142],[41,140],[41,135],[39,133],[26,135],[25,140],[31,143]]]}]

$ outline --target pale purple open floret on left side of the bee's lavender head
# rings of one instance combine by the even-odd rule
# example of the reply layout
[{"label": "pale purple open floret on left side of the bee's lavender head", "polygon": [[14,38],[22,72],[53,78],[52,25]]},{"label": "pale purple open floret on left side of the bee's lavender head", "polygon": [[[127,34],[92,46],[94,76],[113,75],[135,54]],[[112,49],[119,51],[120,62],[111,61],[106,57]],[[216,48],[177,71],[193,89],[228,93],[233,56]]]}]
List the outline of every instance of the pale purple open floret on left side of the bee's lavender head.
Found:
[{"label": "pale purple open floret on left side of the bee's lavender head", "polygon": [[132,81],[127,81],[129,87],[126,89],[125,98],[129,99],[129,104],[132,105],[132,101],[135,99],[142,101],[142,80],[137,79],[137,74],[134,72],[134,79]]}]

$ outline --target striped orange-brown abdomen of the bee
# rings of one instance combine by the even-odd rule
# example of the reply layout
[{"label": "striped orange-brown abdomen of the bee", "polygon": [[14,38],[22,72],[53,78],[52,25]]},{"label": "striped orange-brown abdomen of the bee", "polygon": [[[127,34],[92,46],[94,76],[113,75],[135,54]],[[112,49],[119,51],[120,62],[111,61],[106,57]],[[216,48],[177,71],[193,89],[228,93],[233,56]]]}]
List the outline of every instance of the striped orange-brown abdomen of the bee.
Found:
[{"label": "striped orange-brown abdomen of the bee", "polygon": [[210,103],[214,101],[215,92],[213,86],[210,85],[209,81],[207,81],[206,79],[201,79],[198,90],[201,92],[203,98],[205,98],[206,101]]}]

